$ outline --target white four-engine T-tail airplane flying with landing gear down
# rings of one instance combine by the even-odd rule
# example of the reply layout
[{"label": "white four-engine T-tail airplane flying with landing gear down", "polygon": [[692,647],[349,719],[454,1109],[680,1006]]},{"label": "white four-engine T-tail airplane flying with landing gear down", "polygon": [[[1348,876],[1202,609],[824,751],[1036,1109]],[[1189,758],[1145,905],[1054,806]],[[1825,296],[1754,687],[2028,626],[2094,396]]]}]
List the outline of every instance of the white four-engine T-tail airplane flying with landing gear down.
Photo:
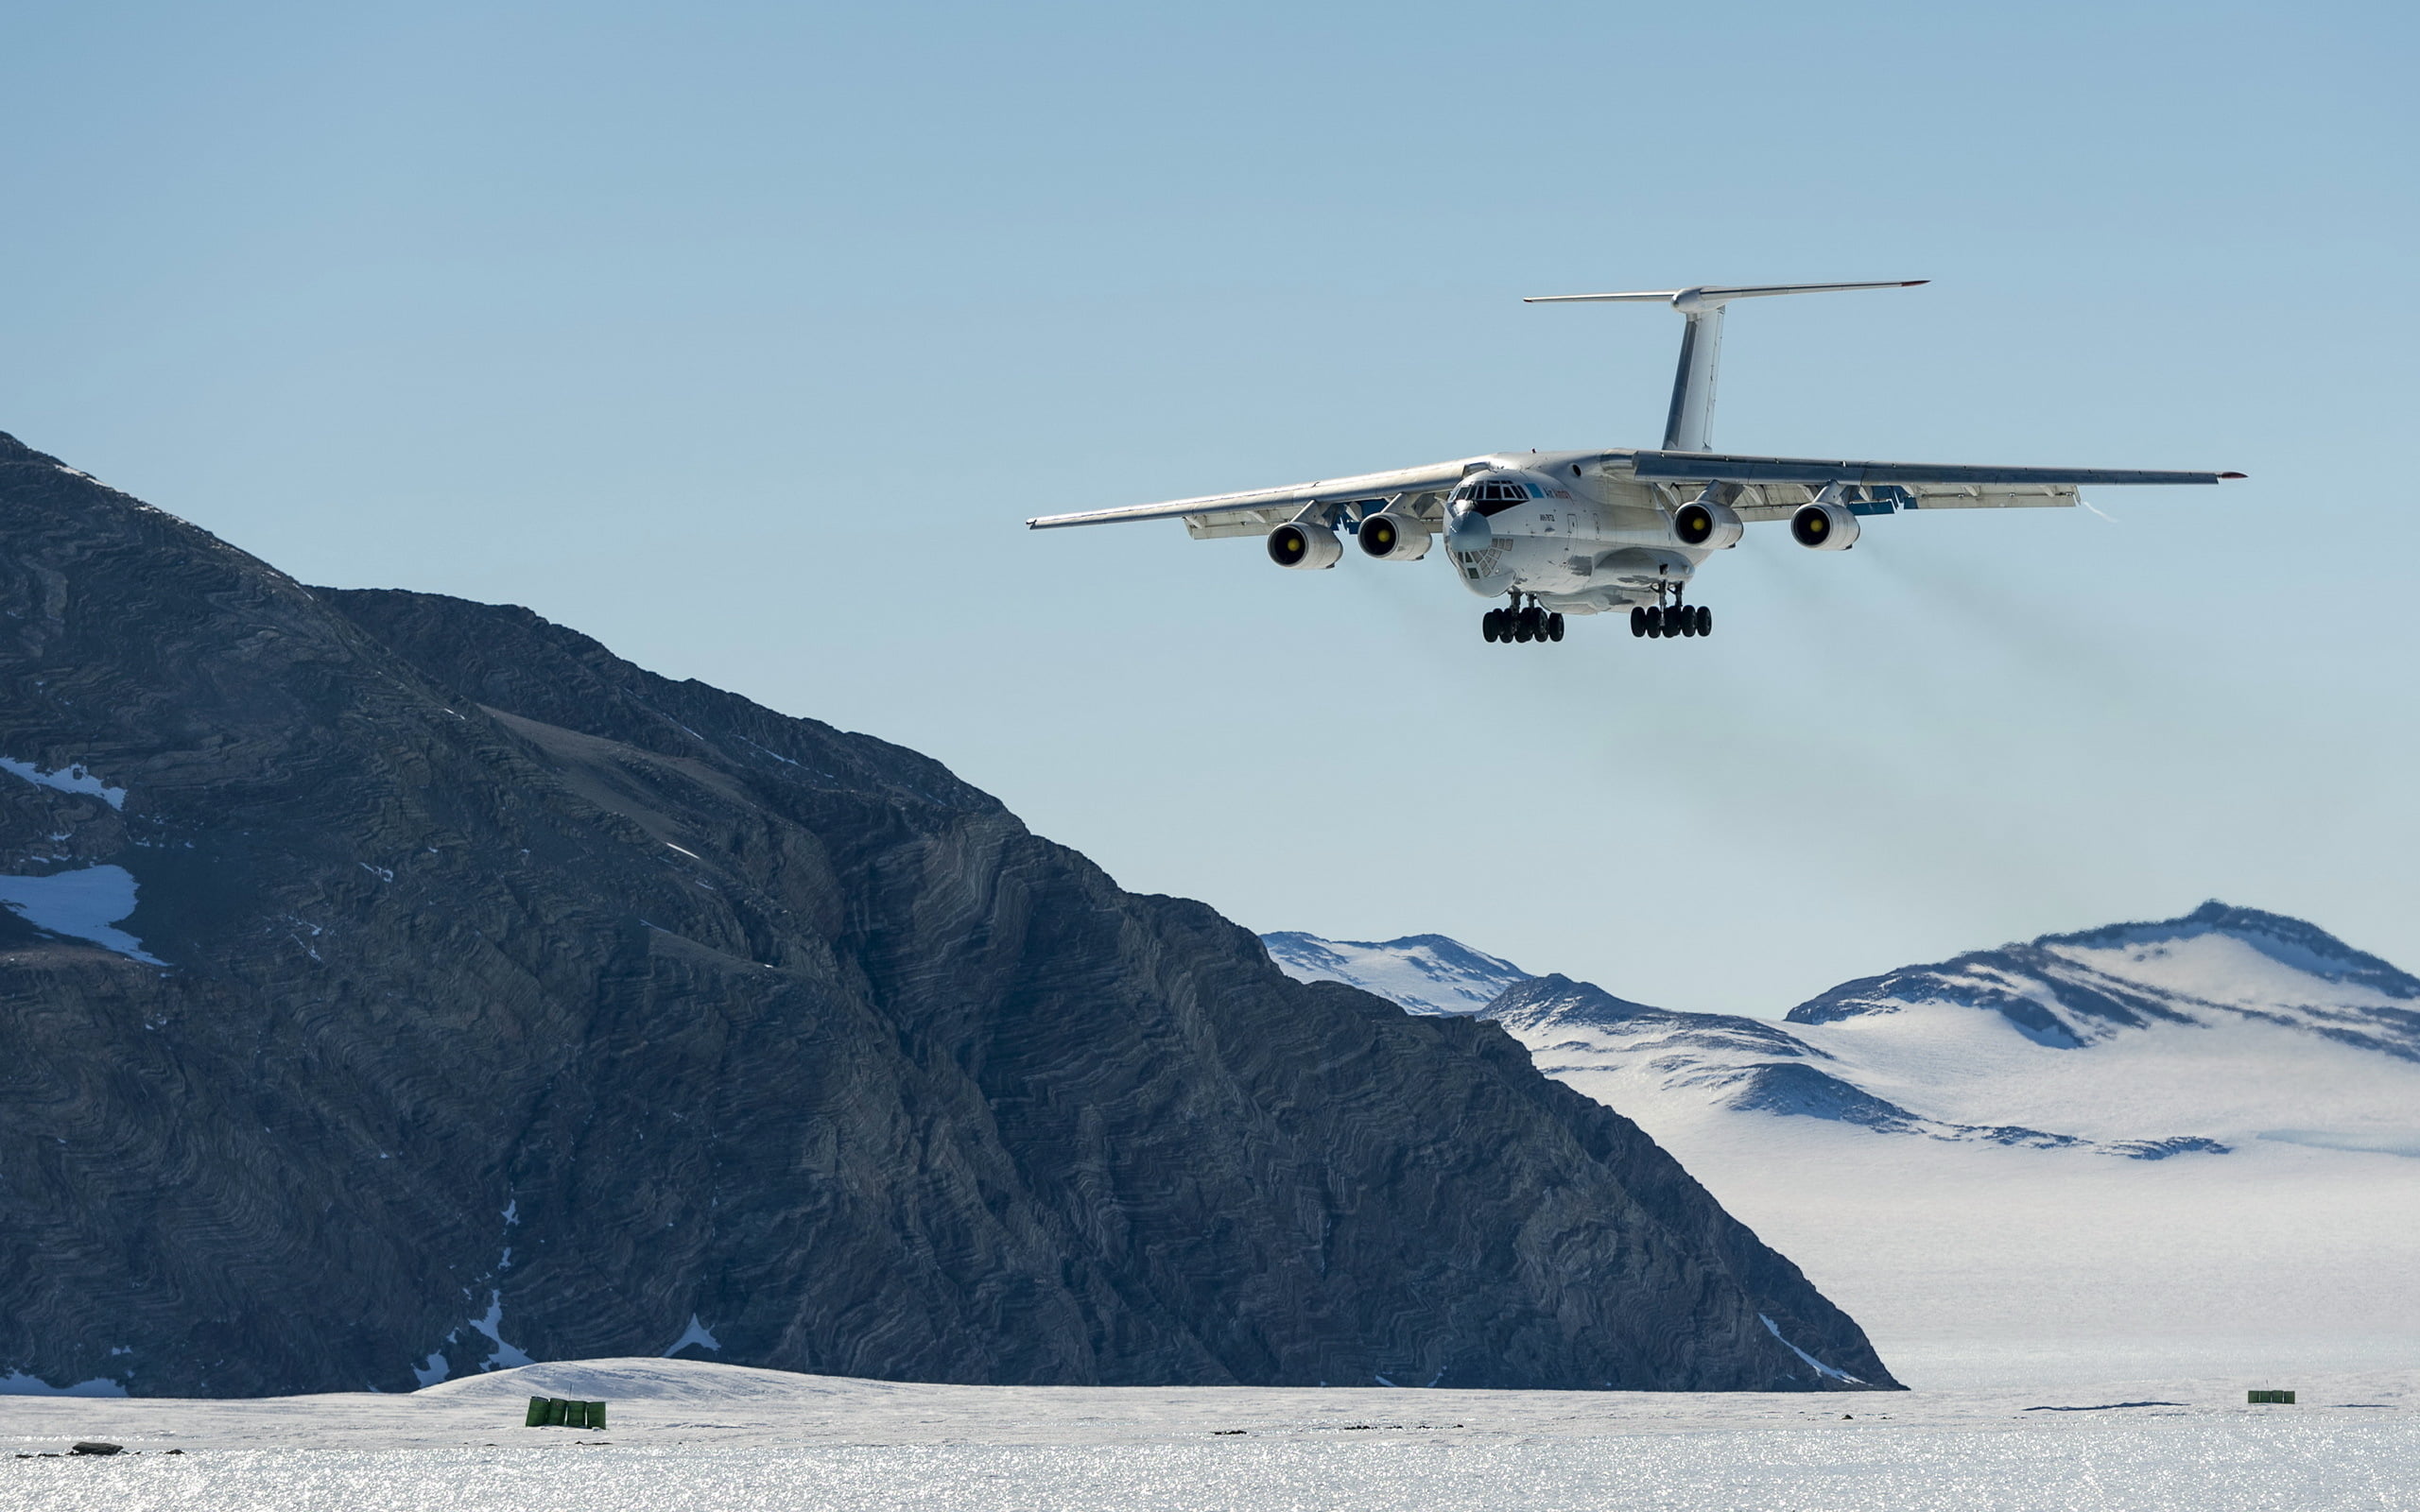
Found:
[{"label": "white four-engine T-tail airplane flying with landing gear down", "polygon": [[1435,537],[1462,585],[1505,598],[1488,641],[1561,641],[1563,614],[1631,612],[1634,636],[1706,636],[1713,612],[1687,602],[1696,569],[1757,520],[1788,520],[1813,552],[1846,552],[1859,520],[1897,510],[2074,506],[2084,484],[2214,484],[2241,472],[2118,472],[2101,467],[1963,467],[1740,457],[1709,448],[1723,307],[1764,295],[1890,283],[1754,283],[1617,295],[1537,295],[1529,305],[1667,302],[1682,312],[1679,370],[1660,450],[1493,452],[1430,467],[1212,494],[1171,503],[1043,515],[1031,530],[1183,520],[1193,539],[1258,535],[1268,559],[1329,569],[1343,530],[1377,561],[1418,561]]}]

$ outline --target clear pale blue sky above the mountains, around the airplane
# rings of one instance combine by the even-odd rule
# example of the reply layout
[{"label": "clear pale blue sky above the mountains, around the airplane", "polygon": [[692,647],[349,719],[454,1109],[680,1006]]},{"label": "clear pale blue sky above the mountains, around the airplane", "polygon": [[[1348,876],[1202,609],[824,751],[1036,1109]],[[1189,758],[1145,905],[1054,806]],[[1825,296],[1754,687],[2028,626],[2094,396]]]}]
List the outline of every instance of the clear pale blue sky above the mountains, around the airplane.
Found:
[{"label": "clear pale blue sky above the mountains, around the airplane", "polygon": [[[0,428],[927,750],[1128,888],[1779,1011],[2202,898],[2420,968],[2405,5],[65,5]],[[2238,467],[1779,527],[1713,641],[1033,513],[1653,443]],[[5,544],[0,544],[5,549]]]}]

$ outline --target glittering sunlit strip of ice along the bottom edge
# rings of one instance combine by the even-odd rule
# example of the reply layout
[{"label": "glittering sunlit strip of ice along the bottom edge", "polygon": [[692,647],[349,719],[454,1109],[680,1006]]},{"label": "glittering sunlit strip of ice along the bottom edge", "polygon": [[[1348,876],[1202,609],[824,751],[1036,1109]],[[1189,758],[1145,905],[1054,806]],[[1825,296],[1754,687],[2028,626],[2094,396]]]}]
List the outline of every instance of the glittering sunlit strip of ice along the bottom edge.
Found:
[{"label": "glittering sunlit strip of ice along the bottom edge", "polygon": [[2410,1507],[2420,1427],[1774,1432],[1500,1444],[240,1449],[12,1461],[27,1512],[2330,1512]]}]

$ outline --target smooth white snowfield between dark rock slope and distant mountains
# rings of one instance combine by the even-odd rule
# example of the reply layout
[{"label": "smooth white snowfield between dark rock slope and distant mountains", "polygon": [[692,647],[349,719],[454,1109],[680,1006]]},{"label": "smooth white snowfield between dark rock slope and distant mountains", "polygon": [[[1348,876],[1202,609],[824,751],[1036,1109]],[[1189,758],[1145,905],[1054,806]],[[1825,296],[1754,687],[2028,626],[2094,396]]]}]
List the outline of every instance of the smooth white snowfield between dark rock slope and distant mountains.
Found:
[{"label": "smooth white snowfield between dark rock slope and distant mountains", "polygon": [[[1667,1086],[1643,1057],[1556,1045],[1537,1060],[1638,1120],[1909,1386],[2420,1364],[2420,1159],[2357,1149],[2420,1125],[2420,1067],[2265,1026],[2142,1040],[2113,1055],[2021,1045],[2011,1055],[2064,1060],[1999,1079],[1999,1106],[1951,1110],[2105,1137],[2212,1135],[2231,1154],[1953,1144],[1733,1113]],[[1931,1110],[1912,1081],[1873,1077]],[[2297,1113],[2316,1127],[2292,1130]]]}]

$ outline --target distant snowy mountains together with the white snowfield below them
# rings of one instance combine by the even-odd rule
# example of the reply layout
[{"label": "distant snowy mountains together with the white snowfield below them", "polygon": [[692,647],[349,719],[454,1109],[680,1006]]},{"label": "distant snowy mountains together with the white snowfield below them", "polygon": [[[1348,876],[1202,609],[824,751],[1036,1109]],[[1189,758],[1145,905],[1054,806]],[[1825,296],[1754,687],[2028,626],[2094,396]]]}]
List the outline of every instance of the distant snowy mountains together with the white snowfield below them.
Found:
[{"label": "distant snowy mountains together with the white snowfield below them", "polygon": [[1433,934],[1268,951],[1500,1023],[1788,1248],[1912,1381],[2420,1352],[2420,980],[2301,919],[2209,902],[1779,1018],[1551,973],[1471,1009],[1515,968]]}]

